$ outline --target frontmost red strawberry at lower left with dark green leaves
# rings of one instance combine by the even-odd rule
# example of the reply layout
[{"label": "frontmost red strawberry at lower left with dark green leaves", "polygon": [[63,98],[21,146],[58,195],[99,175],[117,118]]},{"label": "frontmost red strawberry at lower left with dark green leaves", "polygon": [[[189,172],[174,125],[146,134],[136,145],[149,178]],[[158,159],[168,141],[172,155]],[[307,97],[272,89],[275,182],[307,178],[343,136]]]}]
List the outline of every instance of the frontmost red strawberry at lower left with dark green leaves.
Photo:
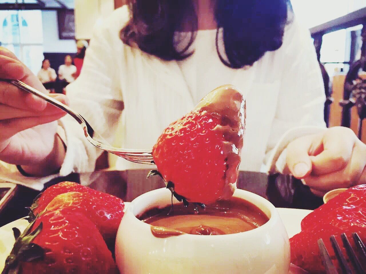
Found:
[{"label": "frontmost red strawberry at lower left with dark green leaves", "polygon": [[[19,236],[19,230],[14,231]],[[97,227],[84,215],[65,211],[37,217],[17,238],[3,274],[116,273]]]}]

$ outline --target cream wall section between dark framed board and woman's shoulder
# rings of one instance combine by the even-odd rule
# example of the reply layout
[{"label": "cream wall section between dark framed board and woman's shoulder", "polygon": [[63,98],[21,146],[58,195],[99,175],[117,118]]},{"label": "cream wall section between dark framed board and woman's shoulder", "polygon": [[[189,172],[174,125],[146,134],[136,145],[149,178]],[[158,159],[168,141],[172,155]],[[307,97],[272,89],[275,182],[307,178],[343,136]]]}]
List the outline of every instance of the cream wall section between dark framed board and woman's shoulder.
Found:
[{"label": "cream wall section between dark framed board and woman's shoulder", "polygon": [[93,27],[114,10],[114,0],[75,0],[76,39],[90,39]]}]

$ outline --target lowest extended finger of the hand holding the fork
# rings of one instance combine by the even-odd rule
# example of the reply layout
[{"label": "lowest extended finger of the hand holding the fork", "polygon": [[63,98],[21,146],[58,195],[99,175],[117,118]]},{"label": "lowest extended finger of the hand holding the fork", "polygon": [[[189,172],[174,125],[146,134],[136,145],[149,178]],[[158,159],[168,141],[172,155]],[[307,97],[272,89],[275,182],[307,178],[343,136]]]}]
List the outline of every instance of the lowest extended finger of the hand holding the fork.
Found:
[{"label": "lowest extended finger of the hand holding the fork", "polygon": [[47,116],[36,116],[26,118],[14,118],[0,121],[1,138],[4,140],[14,136],[16,133],[21,132],[31,127],[51,123],[62,118],[66,115],[66,112]]}]

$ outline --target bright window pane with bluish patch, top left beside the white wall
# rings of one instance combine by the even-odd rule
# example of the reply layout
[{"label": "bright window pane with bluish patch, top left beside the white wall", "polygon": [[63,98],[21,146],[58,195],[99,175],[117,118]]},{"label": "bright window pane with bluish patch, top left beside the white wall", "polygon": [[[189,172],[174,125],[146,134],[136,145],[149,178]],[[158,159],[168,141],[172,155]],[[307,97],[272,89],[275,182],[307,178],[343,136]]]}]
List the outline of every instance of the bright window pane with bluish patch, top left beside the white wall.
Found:
[{"label": "bright window pane with bluish patch, top left beside the white wall", "polygon": [[20,42],[42,44],[42,12],[40,10],[19,11]]}]

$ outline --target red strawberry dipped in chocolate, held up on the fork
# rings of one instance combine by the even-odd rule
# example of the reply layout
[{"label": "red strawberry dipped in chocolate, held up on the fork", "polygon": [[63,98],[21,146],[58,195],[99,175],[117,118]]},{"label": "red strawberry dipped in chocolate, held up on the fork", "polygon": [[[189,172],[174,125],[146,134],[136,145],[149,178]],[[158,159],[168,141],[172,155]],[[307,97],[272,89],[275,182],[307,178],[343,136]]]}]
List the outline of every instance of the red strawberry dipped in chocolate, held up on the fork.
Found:
[{"label": "red strawberry dipped in chocolate, held up on the fork", "polygon": [[229,198],[238,178],[245,100],[234,86],[210,92],[164,130],[153,158],[167,187],[189,202]]}]

